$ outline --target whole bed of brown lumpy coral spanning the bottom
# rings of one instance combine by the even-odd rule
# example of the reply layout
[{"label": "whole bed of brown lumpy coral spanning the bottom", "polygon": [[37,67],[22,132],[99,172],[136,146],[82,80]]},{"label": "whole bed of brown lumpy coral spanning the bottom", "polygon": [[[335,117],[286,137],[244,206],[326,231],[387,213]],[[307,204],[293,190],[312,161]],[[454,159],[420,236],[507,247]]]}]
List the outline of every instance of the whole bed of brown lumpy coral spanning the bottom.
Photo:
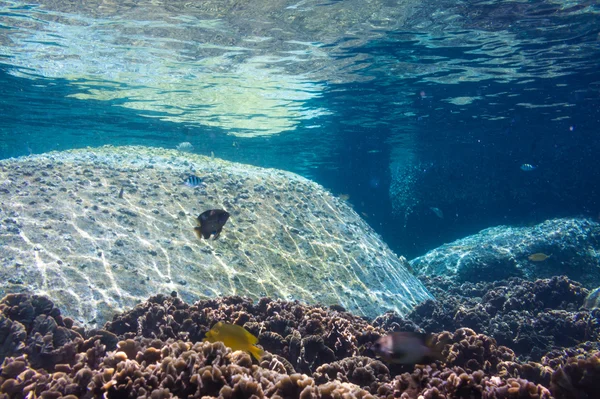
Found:
[{"label": "whole bed of brown lumpy coral spanning the bottom", "polygon": [[[589,326],[588,316],[597,319],[597,314],[577,318],[576,304],[585,290],[569,280],[508,285],[464,286],[461,295],[449,286],[447,297],[437,288],[441,303],[423,304],[415,313],[421,318],[387,313],[371,323],[337,307],[269,298],[253,303],[225,297],[189,305],[176,295],[158,295],[90,331],[62,317],[45,298],[10,295],[0,301],[0,399],[600,397],[594,384],[600,378],[597,342],[559,349],[572,340],[556,336],[557,347],[541,362],[525,362],[512,345],[503,346],[481,328],[445,324],[489,323],[542,309],[530,325],[549,326],[555,320],[572,332],[569,328],[578,331],[582,320]],[[514,298],[515,292],[521,297]],[[500,299],[500,293],[508,298]],[[444,298],[448,301],[442,303]],[[546,309],[548,304],[554,309]],[[436,321],[424,317],[425,310],[440,317],[434,344],[443,344],[445,362],[411,366],[375,358],[370,347],[382,335],[421,331],[419,324],[431,329]],[[259,337],[266,354],[257,362],[220,342],[202,342],[217,321],[243,325]],[[453,332],[439,332],[445,327]],[[596,333],[592,325],[588,336]]]}]

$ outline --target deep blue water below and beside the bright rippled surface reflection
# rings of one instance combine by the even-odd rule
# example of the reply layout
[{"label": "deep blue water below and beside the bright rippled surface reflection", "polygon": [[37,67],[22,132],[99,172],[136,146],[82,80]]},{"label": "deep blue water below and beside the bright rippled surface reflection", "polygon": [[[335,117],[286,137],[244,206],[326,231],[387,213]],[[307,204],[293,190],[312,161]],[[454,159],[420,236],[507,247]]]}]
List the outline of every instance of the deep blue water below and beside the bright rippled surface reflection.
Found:
[{"label": "deep blue water below and beside the bright rippled surface reflection", "polygon": [[[492,8],[481,9],[491,13]],[[540,15],[551,20],[557,14],[549,10]],[[357,212],[408,258],[497,224],[567,215],[598,218],[600,23],[595,11],[569,15],[568,32],[536,30],[539,21],[510,28],[518,18],[506,17],[506,10],[494,18],[467,19],[465,29],[483,29],[487,20],[498,25],[486,28],[490,32],[513,29],[524,43],[516,46],[523,64],[496,65],[488,77],[477,79],[468,73],[496,61],[477,50],[501,47],[494,40],[485,46],[457,41],[432,47],[430,38],[424,42],[414,32],[387,32],[334,56],[368,59],[359,72],[368,79],[315,81],[325,89],[305,106],[327,109],[329,115],[269,137],[240,138],[217,127],[148,118],[152,111],[140,116],[119,107],[123,100],[69,98],[81,92],[72,81],[13,76],[9,72],[15,68],[27,70],[5,57],[0,158],[104,144],[175,148],[187,141],[194,152],[289,170],[349,195]],[[565,22],[560,17],[555,23]],[[451,42],[453,35],[465,36],[457,31],[438,37]],[[553,47],[567,50],[545,52]],[[538,52],[541,61],[526,62]],[[504,60],[505,55],[497,56],[499,64]],[[512,68],[507,75],[514,78],[494,78],[503,68]],[[458,97],[478,99],[458,105],[446,101]],[[537,169],[521,170],[525,163]],[[410,206],[405,197],[399,199],[404,187],[414,199]]]}]

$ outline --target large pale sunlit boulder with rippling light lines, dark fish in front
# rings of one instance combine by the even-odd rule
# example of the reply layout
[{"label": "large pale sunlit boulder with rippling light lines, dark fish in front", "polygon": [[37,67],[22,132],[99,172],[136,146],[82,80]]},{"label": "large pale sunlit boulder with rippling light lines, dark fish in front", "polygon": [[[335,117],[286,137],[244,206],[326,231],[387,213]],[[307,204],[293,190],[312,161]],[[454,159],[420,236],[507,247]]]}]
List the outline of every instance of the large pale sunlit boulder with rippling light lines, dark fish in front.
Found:
[{"label": "large pale sunlit boulder with rippling light lines, dark fish in front", "polygon": [[[183,184],[194,174],[198,187]],[[194,234],[209,209],[217,240]],[[430,298],[373,230],[318,184],[179,151],[102,147],[0,161],[0,295],[45,294],[101,323],[157,293],[272,296],[406,314]]]}]

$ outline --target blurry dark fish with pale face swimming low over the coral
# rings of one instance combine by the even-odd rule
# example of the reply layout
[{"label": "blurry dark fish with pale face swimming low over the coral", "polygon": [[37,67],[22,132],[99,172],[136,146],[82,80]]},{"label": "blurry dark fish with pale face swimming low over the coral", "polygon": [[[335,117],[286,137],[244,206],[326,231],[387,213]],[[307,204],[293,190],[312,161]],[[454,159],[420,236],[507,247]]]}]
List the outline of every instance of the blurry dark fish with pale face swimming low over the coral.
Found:
[{"label": "blurry dark fish with pale face swimming low over the coral", "polygon": [[412,332],[394,332],[379,338],[371,347],[388,363],[416,364],[426,358],[445,361],[444,344],[433,344],[433,336]]}]

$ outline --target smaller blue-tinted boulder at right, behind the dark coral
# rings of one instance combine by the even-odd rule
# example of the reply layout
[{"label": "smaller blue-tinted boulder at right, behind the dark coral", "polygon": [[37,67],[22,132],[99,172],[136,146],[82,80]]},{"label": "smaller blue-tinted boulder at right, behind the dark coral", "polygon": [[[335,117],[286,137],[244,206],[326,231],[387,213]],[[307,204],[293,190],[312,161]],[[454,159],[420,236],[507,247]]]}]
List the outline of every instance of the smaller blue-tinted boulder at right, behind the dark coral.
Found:
[{"label": "smaller blue-tinted boulder at right, behind the dark coral", "polygon": [[532,227],[492,227],[442,245],[410,265],[417,275],[456,282],[566,275],[594,288],[600,285],[600,223],[563,218]]}]

